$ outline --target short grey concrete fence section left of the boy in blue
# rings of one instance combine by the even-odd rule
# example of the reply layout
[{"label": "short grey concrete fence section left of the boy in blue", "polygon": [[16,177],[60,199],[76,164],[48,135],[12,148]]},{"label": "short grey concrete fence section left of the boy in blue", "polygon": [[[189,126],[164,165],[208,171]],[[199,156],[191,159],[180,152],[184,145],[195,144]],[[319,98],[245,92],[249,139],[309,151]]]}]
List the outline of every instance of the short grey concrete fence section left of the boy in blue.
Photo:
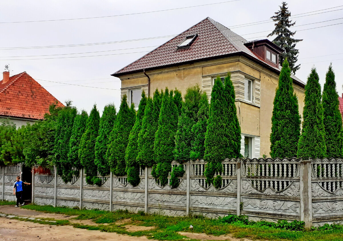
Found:
[{"label": "short grey concrete fence section left of the boy in blue", "polygon": [[1,186],[1,199],[14,201],[16,200],[13,195],[13,184],[17,176],[21,176],[22,165],[0,167],[0,186]]}]

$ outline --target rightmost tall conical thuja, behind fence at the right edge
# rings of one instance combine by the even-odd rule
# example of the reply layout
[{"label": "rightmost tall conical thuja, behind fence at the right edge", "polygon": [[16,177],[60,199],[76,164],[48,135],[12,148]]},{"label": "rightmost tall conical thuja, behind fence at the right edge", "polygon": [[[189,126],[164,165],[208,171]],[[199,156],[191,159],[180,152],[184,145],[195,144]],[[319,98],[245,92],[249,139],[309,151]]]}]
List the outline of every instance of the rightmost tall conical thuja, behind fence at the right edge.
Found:
[{"label": "rightmost tall conical thuja, behind fence at the right edge", "polygon": [[323,123],[326,144],[326,157],[338,158],[343,156],[342,116],[339,110],[338,94],[336,92],[335,74],[332,64],[326,73],[323,90]]}]

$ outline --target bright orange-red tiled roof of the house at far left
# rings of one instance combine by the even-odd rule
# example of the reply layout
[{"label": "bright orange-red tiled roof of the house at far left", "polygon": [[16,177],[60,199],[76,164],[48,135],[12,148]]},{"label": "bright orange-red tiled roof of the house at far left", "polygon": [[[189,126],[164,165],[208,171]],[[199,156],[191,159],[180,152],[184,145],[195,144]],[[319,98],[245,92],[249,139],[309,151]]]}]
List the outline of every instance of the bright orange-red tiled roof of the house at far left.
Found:
[{"label": "bright orange-red tiled roof of the house at far left", "polygon": [[49,106],[57,102],[42,85],[26,72],[10,77],[6,83],[0,81],[0,116],[42,120]]}]

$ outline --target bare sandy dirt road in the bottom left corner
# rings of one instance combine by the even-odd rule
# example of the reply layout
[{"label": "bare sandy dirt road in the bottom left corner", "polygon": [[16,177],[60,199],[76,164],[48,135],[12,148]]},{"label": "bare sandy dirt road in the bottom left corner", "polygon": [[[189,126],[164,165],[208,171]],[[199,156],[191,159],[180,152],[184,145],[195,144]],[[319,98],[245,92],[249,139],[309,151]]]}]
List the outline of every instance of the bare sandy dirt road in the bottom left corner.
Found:
[{"label": "bare sandy dirt road in the bottom left corner", "polygon": [[0,217],[0,241],[16,240],[148,241],[146,237],[130,237],[117,233],[100,232],[98,230],[78,229],[70,225],[44,225]]}]

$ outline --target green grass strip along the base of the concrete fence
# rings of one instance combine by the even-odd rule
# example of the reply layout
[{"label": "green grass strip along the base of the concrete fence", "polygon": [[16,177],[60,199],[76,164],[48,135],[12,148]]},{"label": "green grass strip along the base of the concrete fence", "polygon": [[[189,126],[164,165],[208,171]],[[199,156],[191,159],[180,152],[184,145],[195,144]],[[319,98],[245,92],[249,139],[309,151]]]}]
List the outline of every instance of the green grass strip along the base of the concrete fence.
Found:
[{"label": "green grass strip along the base of the concrete fence", "polygon": [[[72,224],[75,228],[100,230],[104,232],[116,232],[130,236],[146,236],[156,240],[184,241],[185,236],[177,232],[206,233],[214,236],[232,234],[236,238],[248,238],[252,240],[294,240],[294,241],[343,241],[343,229],[336,227],[331,230],[292,231],[299,229],[299,222],[285,225],[271,224],[269,222],[250,222],[245,218],[229,216],[228,218],[209,219],[203,216],[168,217],[162,215],[146,215],[144,213],[133,214],[127,211],[107,212],[103,210],[79,210],[66,207],[27,205],[23,208],[38,210],[46,213],[59,213],[76,216],[76,219],[92,219],[98,225]],[[139,226],[154,226],[147,231],[130,232],[123,226],[117,225],[116,221],[130,218],[129,224]],[[109,225],[103,225],[103,224]],[[192,225],[193,229],[189,229]]]}]

